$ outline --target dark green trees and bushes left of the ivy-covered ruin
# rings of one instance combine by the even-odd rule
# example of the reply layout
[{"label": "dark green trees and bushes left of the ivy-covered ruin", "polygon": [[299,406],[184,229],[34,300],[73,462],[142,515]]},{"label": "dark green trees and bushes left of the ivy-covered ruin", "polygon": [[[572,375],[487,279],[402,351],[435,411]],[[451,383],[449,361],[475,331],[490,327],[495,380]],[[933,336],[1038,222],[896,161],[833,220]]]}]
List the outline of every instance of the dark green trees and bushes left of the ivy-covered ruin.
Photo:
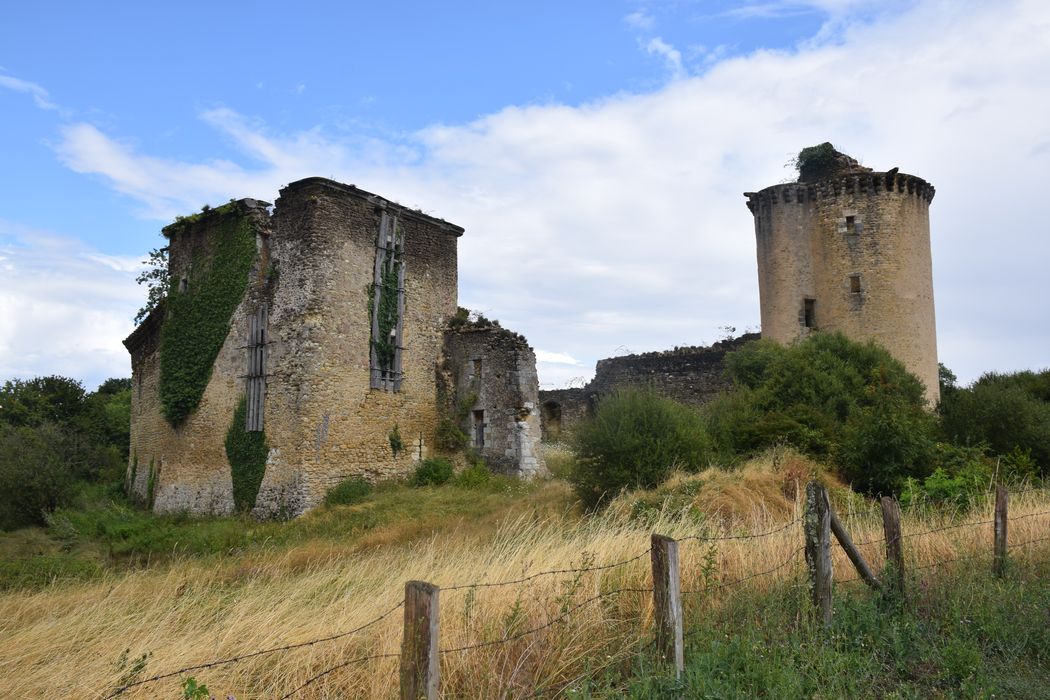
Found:
[{"label": "dark green trees and bushes left of the ivy-covered ruin", "polygon": [[86,391],[75,379],[13,379],[0,388],[0,529],[45,522],[84,482],[119,483],[128,459],[131,380]]}]

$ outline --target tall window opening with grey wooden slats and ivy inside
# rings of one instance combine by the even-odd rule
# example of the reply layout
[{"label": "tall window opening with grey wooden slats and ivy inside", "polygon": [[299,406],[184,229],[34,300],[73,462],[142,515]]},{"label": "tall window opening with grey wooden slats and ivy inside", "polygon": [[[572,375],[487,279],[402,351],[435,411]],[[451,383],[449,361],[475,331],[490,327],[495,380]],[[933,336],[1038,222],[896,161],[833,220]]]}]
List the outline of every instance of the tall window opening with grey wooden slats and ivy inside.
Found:
[{"label": "tall window opening with grey wooden slats and ivy inside", "polygon": [[371,386],[401,390],[401,351],[404,320],[404,231],[398,218],[384,210],[376,239],[376,269],[372,284]]}]

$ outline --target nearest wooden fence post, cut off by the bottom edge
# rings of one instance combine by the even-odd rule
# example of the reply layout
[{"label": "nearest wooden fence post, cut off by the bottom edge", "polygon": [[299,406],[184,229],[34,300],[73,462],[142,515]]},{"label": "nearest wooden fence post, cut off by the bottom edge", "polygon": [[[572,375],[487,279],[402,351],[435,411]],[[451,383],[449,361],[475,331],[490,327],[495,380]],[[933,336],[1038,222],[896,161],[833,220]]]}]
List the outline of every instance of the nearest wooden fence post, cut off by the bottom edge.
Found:
[{"label": "nearest wooden fence post, cut off by the bottom edge", "polygon": [[404,637],[401,640],[401,700],[437,700],[438,591],[425,581],[404,585]]}]

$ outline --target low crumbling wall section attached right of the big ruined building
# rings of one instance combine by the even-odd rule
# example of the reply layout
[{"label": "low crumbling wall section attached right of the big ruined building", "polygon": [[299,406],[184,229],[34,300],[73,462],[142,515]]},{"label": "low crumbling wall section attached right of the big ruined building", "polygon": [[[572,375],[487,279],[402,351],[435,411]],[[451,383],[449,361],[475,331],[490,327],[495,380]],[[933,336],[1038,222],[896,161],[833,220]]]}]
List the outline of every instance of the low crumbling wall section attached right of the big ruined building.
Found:
[{"label": "low crumbling wall section attached right of the big ruined building", "polygon": [[449,331],[445,364],[463,408],[460,427],[485,462],[517,476],[546,473],[536,354],[525,339],[500,327]]}]

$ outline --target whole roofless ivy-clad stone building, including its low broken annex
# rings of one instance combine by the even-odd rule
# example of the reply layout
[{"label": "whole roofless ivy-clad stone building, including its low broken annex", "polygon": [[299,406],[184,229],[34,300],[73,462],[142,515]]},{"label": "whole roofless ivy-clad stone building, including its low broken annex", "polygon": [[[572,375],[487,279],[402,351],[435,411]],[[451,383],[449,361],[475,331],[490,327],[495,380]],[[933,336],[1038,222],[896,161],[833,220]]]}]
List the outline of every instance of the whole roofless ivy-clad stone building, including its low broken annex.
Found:
[{"label": "whole roofless ivy-clad stone building, including its low broken annex", "polygon": [[125,340],[129,488],[158,511],[301,513],[408,473],[450,421],[494,468],[544,470],[536,358],[454,330],[463,229],[311,177],[176,220],[166,299]]}]

